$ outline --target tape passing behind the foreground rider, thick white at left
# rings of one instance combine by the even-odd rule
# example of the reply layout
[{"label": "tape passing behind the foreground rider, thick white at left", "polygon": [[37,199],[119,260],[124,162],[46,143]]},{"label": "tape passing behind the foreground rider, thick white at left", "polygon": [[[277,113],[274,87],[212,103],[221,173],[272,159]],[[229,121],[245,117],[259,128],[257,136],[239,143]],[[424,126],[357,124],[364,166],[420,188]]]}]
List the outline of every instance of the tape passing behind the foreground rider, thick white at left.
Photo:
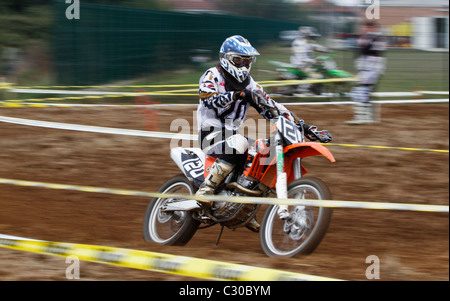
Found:
[{"label": "tape passing behind the foreground rider, thick white at left", "polygon": [[[80,125],[80,124],[70,124],[70,123],[60,123],[51,121],[40,121],[16,117],[0,116],[0,122],[14,123],[27,126],[37,126],[60,130],[72,130],[72,131],[83,131],[83,132],[93,132],[93,133],[103,133],[103,134],[116,134],[116,135],[127,135],[127,136],[139,136],[148,138],[166,138],[166,139],[179,139],[179,140],[191,140],[197,141],[197,135],[183,134],[183,133],[169,133],[169,132],[156,132],[156,131],[141,131],[141,130],[128,130],[120,128],[110,128],[110,127],[99,127],[90,125]],[[360,145],[360,144],[336,144],[336,143],[321,143],[327,146],[341,146],[341,147],[361,147],[361,148],[373,148],[373,149],[391,149],[391,150],[404,150],[404,151],[417,151],[417,152],[433,152],[433,153],[448,153],[448,150],[439,149],[423,149],[423,148],[412,148],[412,147],[393,147],[393,146],[371,146],[371,145]]]}]

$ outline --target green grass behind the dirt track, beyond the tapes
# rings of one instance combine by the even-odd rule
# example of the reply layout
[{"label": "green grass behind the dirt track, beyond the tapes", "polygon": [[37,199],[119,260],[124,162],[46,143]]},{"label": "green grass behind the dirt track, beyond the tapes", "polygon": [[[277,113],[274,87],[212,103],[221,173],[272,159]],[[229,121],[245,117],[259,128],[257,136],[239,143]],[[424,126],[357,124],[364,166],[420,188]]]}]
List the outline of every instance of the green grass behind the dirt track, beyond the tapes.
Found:
[{"label": "green grass behind the dirt track, beyond the tapes", "polygon": [[[253,65],[252,75],[256,81],[274,80],[278,77],[274,66],[268,62],[271,60],[278,60],[289,62],[289,48],[281,47],[279,45],[269,45],[259,49],[261,55],[257,62]],[[353,67],[354,53],[351,50],[336,51],[333,54],[338,68],[355,74]],[[448,52],[425,52],[412,49],[388,50],[387,70],[383,75],[376,91],[382,92],[403,92],[413,90],[435,90],[448,91]],[[197,84],[203,72],[214,66],[217,62],[213,58],[211,62],[192,66],[182,66],[178,70],[168,70],[160,74],[148,75],[135,80],[128,80],[118,85],[164,85],[164,84]],[[117,83],[116,83],[117,84]],[[32,81],[29,85],[33,85]],[[176,88],[175,88],[176,89]],[[183,87],[180,89],[192,89],[190,87]],[[195,89],[195,88],[194,88]],[[105,90],[105,89],[101,89]],[[136,91],[136,88],[111,88],[110,91]],[[139,89],[147,91],[163,90],[157,89]],[[189,92],[195,93],[195,92]],[[8,93],[9,94],[9,93]],[[58,97],[57,95],[43,95],[43,94],[16,94],[6,95],[5,98],[11,99],[29,99],[40,97]],[[3,98],[3,97],[2,97]],[[151,96],[151,100],[159,102],[197,102],[198,98],[195,96]],[[114,99],[86,99],[76,101],[80,103],[129,103],[133,98],[114,98]],[[61,102],[61,101],[52,101]]]}]

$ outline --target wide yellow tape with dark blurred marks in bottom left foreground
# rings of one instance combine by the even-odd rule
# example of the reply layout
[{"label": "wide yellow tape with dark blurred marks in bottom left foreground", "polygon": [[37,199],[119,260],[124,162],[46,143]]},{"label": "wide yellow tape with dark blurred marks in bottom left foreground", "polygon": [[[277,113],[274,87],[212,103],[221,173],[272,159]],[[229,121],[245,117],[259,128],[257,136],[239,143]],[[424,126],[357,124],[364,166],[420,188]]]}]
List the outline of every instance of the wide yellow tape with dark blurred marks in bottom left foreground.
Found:
[{"label": "wide yellow tape with dark blurred marks in bottom left foreground", "polygon": [[0,247],[60,257],[77,256],[84,261],[211,280],[340,280],[208,259],[87,244],[0,239]]}]

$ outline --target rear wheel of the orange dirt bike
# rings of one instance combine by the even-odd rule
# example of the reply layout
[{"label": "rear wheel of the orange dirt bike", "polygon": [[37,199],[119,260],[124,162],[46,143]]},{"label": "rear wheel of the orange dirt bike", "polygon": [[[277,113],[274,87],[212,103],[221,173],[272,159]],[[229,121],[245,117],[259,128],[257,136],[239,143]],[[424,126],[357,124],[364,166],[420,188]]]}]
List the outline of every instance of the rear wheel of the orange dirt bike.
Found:
[{"label": "rear wheel of the orange dirt bike", "polygon": [[[194,194],[195,188],[183,175],[167,181],[159,190],[167,194]],[[162,245],[183,246],[198,229],[199,221],[189,211],[164,212],[161,209],[168,202],[177,202],[177,198],[153,198],[147,207],[143,222],[146,241]]]}]

